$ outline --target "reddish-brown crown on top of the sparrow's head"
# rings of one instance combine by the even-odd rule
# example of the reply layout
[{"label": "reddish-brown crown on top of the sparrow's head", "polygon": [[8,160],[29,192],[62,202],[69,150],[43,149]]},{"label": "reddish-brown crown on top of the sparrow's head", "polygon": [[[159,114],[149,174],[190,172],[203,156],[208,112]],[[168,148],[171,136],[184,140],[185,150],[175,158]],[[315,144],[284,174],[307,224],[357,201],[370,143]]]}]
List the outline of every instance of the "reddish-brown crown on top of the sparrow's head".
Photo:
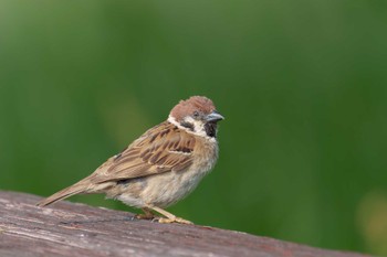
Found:
[{"label": "reddish-brown crown on top of the sparrow's head", "polygon": [[215,105],[211,99],[205,96],[191,96],[187,100],[180,100],[174,109],[170,111],[177,121],[180,121],[184,117],[192,115],[195,110],[201,111],[203,114],[210,114],[215,110]]}]

